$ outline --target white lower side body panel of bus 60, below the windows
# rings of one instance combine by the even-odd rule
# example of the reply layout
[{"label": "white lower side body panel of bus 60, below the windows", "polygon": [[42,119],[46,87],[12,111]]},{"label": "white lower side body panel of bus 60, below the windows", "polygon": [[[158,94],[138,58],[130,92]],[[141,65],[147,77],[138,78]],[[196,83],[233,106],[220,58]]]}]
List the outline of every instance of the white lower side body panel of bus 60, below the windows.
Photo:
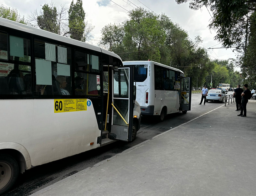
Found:
[{"label": "white lower side body panel of bus 60, below the windows", "polygon": [[[54,99],[0,100],[0,103],[1,130],[4,130],[0,142],[23,144],[32,166],[99,147],[97,137],[101,136],[101,130],[93,105],[87,106],[86,111],[54,113]],[[6,115],[9,110],[15,112]],[[18,125],[15,119],[19,119]],[[13,122],[7,123],[10,120]],[[94,144],[90,145],[91,142]]]}]

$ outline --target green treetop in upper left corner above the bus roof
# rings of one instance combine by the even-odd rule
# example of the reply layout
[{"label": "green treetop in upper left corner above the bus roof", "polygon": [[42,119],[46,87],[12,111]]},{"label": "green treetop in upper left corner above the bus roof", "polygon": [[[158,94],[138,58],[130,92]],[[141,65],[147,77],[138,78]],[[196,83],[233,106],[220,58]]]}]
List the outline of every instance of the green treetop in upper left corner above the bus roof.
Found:
[{"label": "green treetop in upper left corner above the bus roof", "polygon": [[25,25],[27,24],[24,16],[21,18],[20,13],[17,9],[14,9],[11,7],[5,7],[4,5],[0,6],[0,17],[15,21],[15,22],[19,22]]}]

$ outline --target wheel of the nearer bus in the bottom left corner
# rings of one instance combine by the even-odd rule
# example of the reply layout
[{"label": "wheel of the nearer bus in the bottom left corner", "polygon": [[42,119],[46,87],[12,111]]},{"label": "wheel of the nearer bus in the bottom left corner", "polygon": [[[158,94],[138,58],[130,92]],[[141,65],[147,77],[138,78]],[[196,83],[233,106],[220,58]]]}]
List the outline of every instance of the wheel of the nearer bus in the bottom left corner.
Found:
[{"label": "wheel of the nearer bus in the bottom left corner", "polygon": [[19,166],[10,155],[0,155],[0,195],[7,192],[17,180]]}]

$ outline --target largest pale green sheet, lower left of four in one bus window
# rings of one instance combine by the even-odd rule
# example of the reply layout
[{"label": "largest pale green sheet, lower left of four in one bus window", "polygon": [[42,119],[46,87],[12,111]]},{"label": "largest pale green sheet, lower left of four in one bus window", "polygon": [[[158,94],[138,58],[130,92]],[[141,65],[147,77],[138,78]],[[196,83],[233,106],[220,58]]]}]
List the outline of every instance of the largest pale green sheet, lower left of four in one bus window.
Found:
[{"label": "largest pale green sheet, lower left of four in one bus window", "polygon": [[36,59],[36,84],[52,85],[52,63]]}]

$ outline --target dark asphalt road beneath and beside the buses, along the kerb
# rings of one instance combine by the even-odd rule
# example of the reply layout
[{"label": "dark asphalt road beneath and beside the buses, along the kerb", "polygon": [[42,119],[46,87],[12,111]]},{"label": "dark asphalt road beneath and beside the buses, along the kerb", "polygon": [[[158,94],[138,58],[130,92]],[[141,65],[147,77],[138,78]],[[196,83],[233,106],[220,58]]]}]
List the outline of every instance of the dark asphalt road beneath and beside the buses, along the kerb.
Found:
[{"label": "dark asphalt road beneath and beside the buses, along the kerb", "polygon": [[[228,94],[232,94],[229,92]],[[186,114],[181,112],[167,115],[164,122],[159,123],[153,117],[143,117],[140,130],[137,132],[137,138],[132,143],[117,141],[115,143],[103,146],[98,149],[90,150],[85,153],[74,155],[52,163],[44,164],[27,170],[19,176],[14,188],[4,196],[28,196],[47,186],[54,184],[78,171],[92,167],[102,160],[110,158],[122,151],[151,139],[164,131],[174,128],[180,124],[188,122],[210,110],[213,110],[224,103],[206,102],[200,103],[201,94],[192,94],[191,111]],[[209,119],[210,120],[210,119]]]}]

